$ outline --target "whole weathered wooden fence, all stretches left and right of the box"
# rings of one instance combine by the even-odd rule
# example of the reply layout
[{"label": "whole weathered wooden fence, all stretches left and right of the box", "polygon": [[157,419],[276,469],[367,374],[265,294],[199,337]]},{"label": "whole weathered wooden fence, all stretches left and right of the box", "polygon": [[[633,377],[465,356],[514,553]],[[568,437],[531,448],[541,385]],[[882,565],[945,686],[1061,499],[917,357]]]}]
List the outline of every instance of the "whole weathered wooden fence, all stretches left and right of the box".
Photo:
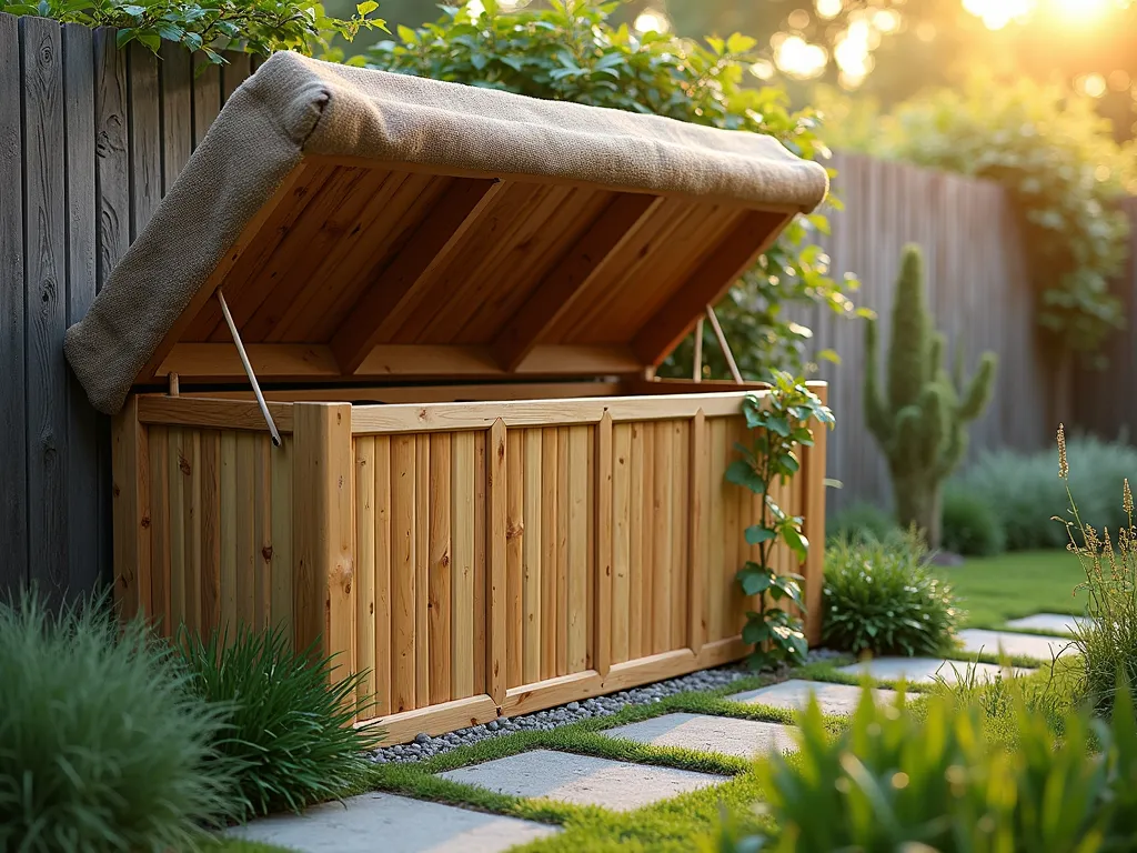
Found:
[{"label": "whole weathered wooden fence, all stretches left and right of the box", "polygon": [[[159,59],[138,45],[118,50],[110,31],[0,15],[0,590],[35,580],[60,595],[109,578],[109,430],[67,370],[64,332],[251,73],[248,56],[229,59],[198,68],[201,60],[174,45]],[[825,239],[835,273],[856,272],[864,281],[856,301],[887,320],[901,248],[919,242],[939,328],[964,347],[969,367],[984,349],[1001,357],[972,454],[1044,445],[1049,394],[1002,191],[863,157],[838,156],[835,165],[847,208]],[[1131,208],[1137,215],[1137,202]],[[1129,312],[1137,328],[1137,300]],[[828,309],[802,320],[844,362],[822,368],[840,424],[829,467],[845,485],[830,505],[887,500],[883,459],[862,425],[863,328]],[[1129,337],[1117,346],[1109,389],[1128,389],[1132,382],[1118,378],[1135,378],[1137,345]],[[1087,383],[1089,423],[1115,434],[1117,424],[1134,422],[1137,396]]]}]

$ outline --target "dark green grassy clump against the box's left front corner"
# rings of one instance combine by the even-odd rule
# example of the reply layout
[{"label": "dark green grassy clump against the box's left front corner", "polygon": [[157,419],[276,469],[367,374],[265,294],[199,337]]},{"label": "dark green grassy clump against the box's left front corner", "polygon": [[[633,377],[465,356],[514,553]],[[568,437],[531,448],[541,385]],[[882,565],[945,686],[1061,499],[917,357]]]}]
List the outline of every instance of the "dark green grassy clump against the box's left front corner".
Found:
[{"label": "dark green grassy clump against the box's left front corner", "polygon": [[238,772],[234,818],[337,797],[368,769],[364,753],[382,732],[351,724],[366,707],[355,698],[364,674],[335,680],[333,659],[294,652],[283,628],[242,627],[229,645],[218,631],[202,639],[183,630],[179,647],[192,688],[227,710],[215,746]]}]

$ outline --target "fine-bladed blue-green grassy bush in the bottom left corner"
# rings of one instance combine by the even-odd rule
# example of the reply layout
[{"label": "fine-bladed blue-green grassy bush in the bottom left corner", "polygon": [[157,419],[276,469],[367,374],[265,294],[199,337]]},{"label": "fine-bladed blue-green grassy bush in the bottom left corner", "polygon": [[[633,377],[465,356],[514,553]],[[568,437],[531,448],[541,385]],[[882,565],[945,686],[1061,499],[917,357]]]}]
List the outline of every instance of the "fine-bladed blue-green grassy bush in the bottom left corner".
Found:
[{"label": "fine-bladed blue-green grassy bush in the bottom left corner", "polygon": [[193,850],[225,813],[222,709],[103,604],[0,603],[0,850]]}]

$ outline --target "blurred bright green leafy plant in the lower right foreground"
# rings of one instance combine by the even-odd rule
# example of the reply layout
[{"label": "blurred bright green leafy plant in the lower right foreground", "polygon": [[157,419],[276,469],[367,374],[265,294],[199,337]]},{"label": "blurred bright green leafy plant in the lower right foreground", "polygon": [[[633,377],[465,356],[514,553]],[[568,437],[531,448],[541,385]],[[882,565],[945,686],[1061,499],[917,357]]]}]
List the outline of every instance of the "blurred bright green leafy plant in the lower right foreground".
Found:
[{"label": "blurred bright green leafy plant in the lower right foreground", "polygon": [[[779,837],[738,837],[720,851],[794,853],[1098,853],[1137,845],[1137,722],[1119,702],[1111,727],[1068,713],[1061,737],[1020,701],[1013,750],[984,714],[949,696],[923,714],[903,699],[864,697],[837,737],[816,702],[803,714],[796,755],[760,768]],[[1099,752],[1095,747],[1101,747]]]}]

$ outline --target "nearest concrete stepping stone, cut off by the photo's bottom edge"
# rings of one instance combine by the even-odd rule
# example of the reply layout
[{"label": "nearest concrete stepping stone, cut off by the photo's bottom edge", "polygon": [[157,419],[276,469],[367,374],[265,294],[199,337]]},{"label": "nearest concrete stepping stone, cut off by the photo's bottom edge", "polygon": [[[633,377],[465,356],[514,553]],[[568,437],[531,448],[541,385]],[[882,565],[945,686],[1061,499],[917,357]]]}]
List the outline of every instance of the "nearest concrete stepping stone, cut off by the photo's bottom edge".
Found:
[{"label": "nearest concrete stepping stone, cut off by the photo's bottom edge", "polygon": [[372,793],[279,814],[225,835],[299,853],[498,853],[559,828],[440,803]]}]

